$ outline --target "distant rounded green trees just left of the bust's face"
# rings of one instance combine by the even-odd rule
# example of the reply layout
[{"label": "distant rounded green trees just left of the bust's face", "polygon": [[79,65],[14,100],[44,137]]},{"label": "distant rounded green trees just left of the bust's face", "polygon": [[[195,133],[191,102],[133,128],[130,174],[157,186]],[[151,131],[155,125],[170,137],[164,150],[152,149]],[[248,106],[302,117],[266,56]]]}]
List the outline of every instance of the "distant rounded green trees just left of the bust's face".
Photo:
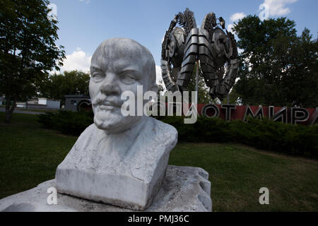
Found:
[{"label": "distant rounded green trees just left of the bust's face", "polygon": [[64,104],[65,95],[89,95],[88,85],[90,75],[82,71],[64,71],[54,73],[39,84],[40,95],[54,100],[61,100]]}]

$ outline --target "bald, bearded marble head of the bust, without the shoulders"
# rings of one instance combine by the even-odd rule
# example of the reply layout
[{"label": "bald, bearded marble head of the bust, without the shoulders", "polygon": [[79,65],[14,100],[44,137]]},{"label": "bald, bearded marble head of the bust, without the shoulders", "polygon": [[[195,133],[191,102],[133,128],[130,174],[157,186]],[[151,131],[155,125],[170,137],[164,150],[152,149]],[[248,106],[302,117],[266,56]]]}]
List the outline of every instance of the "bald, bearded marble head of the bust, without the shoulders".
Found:
[{"label": "bald, bearded marble head of the bust, without the shoulders", "polygon": [[120,133],[141,122],[142,117],[124,117],[121,112],[122,93],[129,90],[137,98],[137,85],[143,85],[143,93],[158,90],[151,52],[127,38],[102,42],[91,60],[89,85],[94,123],[98,129]]}]

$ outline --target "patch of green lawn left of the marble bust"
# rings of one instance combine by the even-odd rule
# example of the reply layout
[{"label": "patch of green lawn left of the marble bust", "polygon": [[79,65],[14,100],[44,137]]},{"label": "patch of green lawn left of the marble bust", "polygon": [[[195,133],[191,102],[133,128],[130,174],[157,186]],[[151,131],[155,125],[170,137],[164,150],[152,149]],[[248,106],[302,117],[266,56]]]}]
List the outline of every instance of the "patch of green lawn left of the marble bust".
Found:
[{"label": "patch of green lawn left of the marble bust", "polygon": [[54,178],[57,165],[76,137],[41,129],[33,114],[13,114],[4,124],[0,112],[0,197],[31,189]]}]

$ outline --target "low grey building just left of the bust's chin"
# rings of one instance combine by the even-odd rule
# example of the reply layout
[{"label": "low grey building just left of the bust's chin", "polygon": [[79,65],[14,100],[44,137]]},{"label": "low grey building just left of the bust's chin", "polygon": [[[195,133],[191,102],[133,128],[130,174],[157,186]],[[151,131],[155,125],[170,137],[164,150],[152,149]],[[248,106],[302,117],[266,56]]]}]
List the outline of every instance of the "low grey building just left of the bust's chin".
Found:
[{"label": "low grey building just left of the bust's chin", "polygon": [[86,95],[65,95],[65,109],[72,112],[90,111],[92,104]]}]

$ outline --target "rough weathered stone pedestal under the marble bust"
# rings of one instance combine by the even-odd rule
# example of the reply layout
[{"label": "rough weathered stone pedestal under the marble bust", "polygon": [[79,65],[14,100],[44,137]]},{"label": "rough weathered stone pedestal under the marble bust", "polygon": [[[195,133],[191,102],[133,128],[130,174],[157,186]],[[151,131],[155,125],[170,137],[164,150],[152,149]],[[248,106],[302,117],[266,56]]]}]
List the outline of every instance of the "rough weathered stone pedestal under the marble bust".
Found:
[{"label": "rough weathered stone pedestal under the marble bust", "polygon": [[[47,204],[47,189],[56,187],[54,179],[39,184],[34,189],[23,191],[0,200],[0,211],[99,211],[126,212],[127,208],[97,203],[65,194],[57,194],[57,204]],[[160,190],[151,206],[144,211],[183,212],[212,210],[211,183],[208,173],[197,167],[167,166]]]}]

